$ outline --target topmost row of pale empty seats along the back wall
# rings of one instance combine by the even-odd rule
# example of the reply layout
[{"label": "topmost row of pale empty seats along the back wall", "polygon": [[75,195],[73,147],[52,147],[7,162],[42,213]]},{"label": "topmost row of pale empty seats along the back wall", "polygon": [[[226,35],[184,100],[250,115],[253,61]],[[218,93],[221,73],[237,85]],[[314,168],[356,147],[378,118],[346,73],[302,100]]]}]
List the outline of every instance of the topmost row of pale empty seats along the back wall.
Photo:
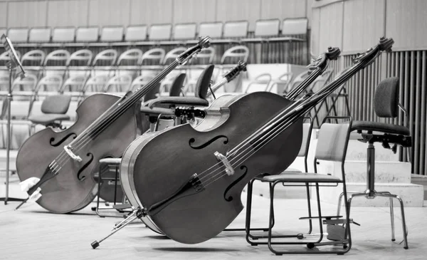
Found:
[{"label": "topmost row of pale empty seats along the back wall", "polygon": [[[281,28],[280,28],[280,24]],[[274,41],[305,39],[307,35],[307,19],[258,20],[255,23],[255,39],[273,37]],[[248,37],[248,21],[227,21],[189,24],[152,24],[151,26],[97,26],[90,27],[56,27],[56,28],[9,28],[7,36],[13,43],[133,43],[139,45],[181,44],[192,43],[196,36],[210,36],[212,43],[230,43],[233,38]],[[295,36],[290,38],[288,36]],[[193,41],[191,41],[193,40]],[[28,44],[27,44],[28,45]]]}]

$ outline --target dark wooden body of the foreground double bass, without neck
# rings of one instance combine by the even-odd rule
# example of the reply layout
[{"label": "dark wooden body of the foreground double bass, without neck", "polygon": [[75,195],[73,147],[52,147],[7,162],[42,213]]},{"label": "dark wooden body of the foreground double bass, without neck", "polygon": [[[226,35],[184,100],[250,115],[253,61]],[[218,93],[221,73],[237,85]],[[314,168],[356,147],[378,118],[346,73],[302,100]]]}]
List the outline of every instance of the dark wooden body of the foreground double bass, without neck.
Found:
[{"label": "dark wooden body of the foreground double bass, without neck", "polygon": [[[147,209],[173,196],[194,173],[218,163],[215,152],[226,155],[291,103],[266,92],[222,96],[206,110],[206,118],[196,128],[178,125],[135,140],[139,143],[126,150],[120,167],[125,193],[133,193],[139,207]],[[243,209],[243,187],[260,173],[285,170],[297,156],[301,140],[302,118],[274,142],[253,150],[248,160],[233,167],[234,175],[214,177],[216,181],[201,192],[190,191],[174,199],[150,219],[164,234],[182,243],[195,244],[216,236]]]}]

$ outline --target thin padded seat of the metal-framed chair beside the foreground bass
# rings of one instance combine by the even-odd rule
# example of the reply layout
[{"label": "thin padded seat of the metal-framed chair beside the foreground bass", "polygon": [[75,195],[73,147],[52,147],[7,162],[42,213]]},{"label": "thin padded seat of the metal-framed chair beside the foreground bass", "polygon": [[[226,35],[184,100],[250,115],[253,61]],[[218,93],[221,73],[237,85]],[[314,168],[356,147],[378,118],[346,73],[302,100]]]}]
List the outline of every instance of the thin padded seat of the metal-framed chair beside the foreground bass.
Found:
[{"label": "thin padded seat of the metal-framed chair beside the foreground bass", "polygon": [[319,175],[317,173],[289,173],[280,175],[269,175],[262,179],[263,182],[342,182],[339,177],[333,175]]}]

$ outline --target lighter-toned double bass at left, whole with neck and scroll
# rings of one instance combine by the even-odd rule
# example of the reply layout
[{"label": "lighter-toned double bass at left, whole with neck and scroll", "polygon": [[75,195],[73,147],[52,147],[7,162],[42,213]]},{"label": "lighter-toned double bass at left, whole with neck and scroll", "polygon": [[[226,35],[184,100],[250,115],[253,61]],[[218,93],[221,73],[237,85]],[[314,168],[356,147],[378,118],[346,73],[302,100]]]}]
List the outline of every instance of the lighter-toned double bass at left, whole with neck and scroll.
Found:
[{"label": "lighter-toned double bass at left, whole with neck and scroll", "polygon": [[40,187],[37,203],[50,212],[68,213],[82,209],[95,197],[93,172],[102,157],[121,157],[139,133],[141,98],[174,68],[189,61],[209,37],[202,38],[176,58],[147,85],[123,97],[96,94],[78,107],[78,120],[67,130],[55,132],[46,128],[23,143],[16,158],[21,181],[40,179],[28,194]]}]

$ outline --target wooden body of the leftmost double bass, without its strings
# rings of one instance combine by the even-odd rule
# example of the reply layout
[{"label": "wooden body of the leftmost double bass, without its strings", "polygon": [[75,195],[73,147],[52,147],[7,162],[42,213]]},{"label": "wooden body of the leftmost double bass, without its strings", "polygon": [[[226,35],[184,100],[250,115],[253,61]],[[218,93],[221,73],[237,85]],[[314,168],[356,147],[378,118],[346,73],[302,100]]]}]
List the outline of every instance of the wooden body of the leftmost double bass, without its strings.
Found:
[{"label": "wooden body of the leftmost double bass, without its strings", "polygon": [[[64,146],[83,132],[102,113],[114,105],[120,97],[95,94],[86,98],[77,109],[78,120],[70,128],[55,132],[46,128],[28,138],[16,157],[16,170],[21,181],[29,177],[41,178],[46,167],[63,152]],[[85,147],[82,162],[66,158],[61,174],[42,185],[41,198],[37,203],[50,212],[67,213],[82,209],[93,201],[96,190],[93,172],[103,157],[120,157],[137,135],[140,134],[139,104],[130,107]],[[29,163],[31,162],[31,163]],[[83,171],[79,172],[81,169]],[[83,180],[79,180],[84,177]]]}]

